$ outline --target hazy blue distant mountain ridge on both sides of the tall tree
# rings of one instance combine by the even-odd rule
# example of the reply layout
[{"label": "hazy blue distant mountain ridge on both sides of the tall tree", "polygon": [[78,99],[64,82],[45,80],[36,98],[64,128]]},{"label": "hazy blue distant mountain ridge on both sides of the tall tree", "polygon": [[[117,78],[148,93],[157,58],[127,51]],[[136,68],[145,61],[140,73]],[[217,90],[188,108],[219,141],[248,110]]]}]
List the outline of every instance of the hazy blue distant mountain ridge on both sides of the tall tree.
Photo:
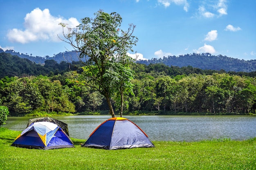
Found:
[{"label": "hazy blue distant mountain ridge on both sides of the tall tree", "polygon": [[[21,58],[27,58],[36,64],[44,64],[45,60],[55,60],[58,63],[65,62],[77,62],[79,61],[78,55],[75,51],[65,51],[63,53],[58,53],[52,57],[45,56],[32,56],[32,54],[23,54],[15,52],[13,50],[3,51],[0,49],[0,53],[10,53],[11,55],[17,55]],[[83,59],[85,61],[85,59]],[[165,64],[166,66],[178,66],[186,67],[192,66],[194,68],[200,68],[203,70],[224,70],[224,71],[234,71],[234,72],[253,72],[256,71],[256,60],[239,60],[236,58],[227,57],[226,55],[211,55],[210,53],[193,53],[179,56],[168,56],[163,58],[152,58],[151,60],[138,60],[137,63],[140,64]]]}]

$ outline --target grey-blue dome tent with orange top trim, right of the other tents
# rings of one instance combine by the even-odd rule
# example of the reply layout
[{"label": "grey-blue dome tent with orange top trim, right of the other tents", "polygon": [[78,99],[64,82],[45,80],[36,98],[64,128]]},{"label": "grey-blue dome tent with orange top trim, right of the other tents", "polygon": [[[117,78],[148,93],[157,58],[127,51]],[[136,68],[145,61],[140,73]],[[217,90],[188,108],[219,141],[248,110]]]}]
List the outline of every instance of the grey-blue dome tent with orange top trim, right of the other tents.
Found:
[{"label": "grey-blue dome tent with orange top trim, right of the other tents", "polygon": [[155,147],[139,126],[122,117],[104,121],[82,146],[107,150]]}]

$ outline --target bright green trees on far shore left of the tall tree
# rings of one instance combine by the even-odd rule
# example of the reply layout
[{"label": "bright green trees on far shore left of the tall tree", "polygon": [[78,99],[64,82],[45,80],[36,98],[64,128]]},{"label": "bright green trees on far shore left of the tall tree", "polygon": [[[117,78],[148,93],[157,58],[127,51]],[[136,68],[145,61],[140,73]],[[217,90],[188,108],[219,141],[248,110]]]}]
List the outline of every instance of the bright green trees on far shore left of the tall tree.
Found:
[{"label": "bright green trees on far shore left of the tall tree", "polygon": [[[4,82],[0,88],[2,104],[7,106],[12,116],[40,115],[40,112],[74,113],[75,106],[70,101],[68,89],[49,77],[23,77]],[[32,113],[32,112],[39,112]]]}]

